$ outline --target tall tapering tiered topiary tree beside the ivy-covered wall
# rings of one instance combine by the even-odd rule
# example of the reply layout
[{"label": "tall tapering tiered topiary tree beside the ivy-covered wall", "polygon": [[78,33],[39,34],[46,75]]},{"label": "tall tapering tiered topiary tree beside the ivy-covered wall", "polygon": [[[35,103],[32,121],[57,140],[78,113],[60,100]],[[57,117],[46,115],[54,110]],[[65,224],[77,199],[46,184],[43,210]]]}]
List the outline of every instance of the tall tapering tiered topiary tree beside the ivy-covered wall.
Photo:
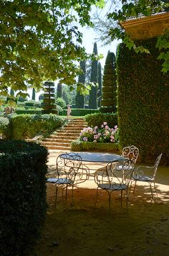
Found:
[{"label": "tall tapering tiered topiary tree beside the ivy-covered wall", "polygon": [[102,107],[100,108],[102,112],[116,111],[117,108],[117,76],[115,68],[115,54],[108,52],[102,81]]}]

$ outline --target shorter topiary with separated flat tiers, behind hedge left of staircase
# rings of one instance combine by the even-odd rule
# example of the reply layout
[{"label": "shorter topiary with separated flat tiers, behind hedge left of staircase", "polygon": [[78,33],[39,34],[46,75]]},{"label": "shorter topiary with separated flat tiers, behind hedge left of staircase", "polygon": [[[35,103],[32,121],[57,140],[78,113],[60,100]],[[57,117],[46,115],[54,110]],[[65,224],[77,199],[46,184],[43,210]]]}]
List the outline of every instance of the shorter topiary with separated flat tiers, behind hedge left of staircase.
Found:
[{"label": "shorter topiary with separated flat tiers, behind hedge left of staircase", "polygon": [[45,82],[44,83],[44,100],[43,100],[43,114],[57,114],[57,109],[55,105],[55,98],[54,98],[54,83],[53,82]]}]

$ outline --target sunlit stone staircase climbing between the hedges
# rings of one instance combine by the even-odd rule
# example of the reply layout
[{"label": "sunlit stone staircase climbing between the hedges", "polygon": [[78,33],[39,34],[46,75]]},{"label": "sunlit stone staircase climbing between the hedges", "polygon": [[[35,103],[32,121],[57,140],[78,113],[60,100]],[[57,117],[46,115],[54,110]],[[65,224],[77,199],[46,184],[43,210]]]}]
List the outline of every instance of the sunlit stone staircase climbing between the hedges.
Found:
[{"label": "sunlit stone staircase climbing between the hedges", "polygon": [[84,119],[70,119],[62,129],[42,140],[42,145],[48,150],[71,150],[71,142],[77,140],[84,127],[87,127]]}]

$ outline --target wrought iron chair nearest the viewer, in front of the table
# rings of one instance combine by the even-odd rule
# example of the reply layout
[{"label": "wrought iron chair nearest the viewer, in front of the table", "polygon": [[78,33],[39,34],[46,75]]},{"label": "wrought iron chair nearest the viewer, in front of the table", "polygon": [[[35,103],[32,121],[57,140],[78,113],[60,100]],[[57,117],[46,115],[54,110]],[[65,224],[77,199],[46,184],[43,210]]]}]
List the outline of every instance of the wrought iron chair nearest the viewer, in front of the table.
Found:
[{"label": "wrought iron chair nearest the viewer, in front of the table", "polygon": [[[126,160],[124,163],[120,162],[117,167],[116,162],[108,163],[105,170],[97,170],[95,172],[95,183],[97,184],[97,196],[99,188],[107,191],[109,195],[109,214],[111,195],[114,191],[121,192],[121,206],[122,206],[122,192],[126,192],[126,206],[128,204],[128,198],[130,194],[130,184],[134,168],[129,164],[130,160]],[[121,169],[119,168],[121,167]],[[95,206],[97,204],[97,196]]]}]

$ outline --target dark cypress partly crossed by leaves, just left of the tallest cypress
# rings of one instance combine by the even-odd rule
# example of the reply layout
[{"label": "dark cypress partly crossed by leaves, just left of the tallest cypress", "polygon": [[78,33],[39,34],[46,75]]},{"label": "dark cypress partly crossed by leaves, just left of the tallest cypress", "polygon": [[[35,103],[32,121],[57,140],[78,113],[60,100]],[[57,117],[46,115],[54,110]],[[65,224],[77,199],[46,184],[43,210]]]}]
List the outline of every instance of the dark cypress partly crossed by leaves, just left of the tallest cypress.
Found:
[{"label": "dark cypress partly crossed by leaves, just left of the tallest cypress", "polygon": [[[86,61],[82,60],[79,63],[80,68],[82,69],[82,74],[79,75],[78,83],[85,83],[86,81]],[[76,95],[76,108],[77,109],[84,109],[84,96],[77,91]]]}]

